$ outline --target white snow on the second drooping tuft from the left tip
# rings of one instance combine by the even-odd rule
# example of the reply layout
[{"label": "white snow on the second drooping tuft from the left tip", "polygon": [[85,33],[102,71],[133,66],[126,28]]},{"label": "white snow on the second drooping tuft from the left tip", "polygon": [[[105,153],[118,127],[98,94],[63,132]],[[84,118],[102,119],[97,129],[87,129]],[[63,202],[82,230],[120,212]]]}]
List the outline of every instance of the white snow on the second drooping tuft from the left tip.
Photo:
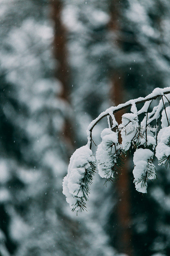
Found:
[{"label": "white snow on the second drooping tuft from the left tip", "polygon": [[99,175],[101,178],[113,178],[113,174],[106,173],[105,170],[109,170],[113,162],[116,163],[116,151],[122,148],[122,145],[118,143],[118,133],[109,128],[101,132],[101,138],[102,141],[96,151]]}]

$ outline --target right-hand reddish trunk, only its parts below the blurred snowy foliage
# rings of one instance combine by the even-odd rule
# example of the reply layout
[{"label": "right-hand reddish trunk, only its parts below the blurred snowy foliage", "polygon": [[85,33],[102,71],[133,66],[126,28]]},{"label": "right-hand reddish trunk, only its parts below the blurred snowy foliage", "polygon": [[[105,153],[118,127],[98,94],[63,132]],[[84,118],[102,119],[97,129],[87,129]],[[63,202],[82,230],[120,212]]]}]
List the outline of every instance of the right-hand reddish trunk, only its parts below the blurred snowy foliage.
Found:
[{"label": "right-hand reddish trunk, only its parts below the blurred snowy foliage", "polygon": [[[115,105],[123,103],[124,88],[123,82],[120,76],[114,76],[112,81],[111,99]],[[115,113],[115,118],[118,124],[121,123],[122,115],[124,111],[121,110]],[[119,136],[119,142],[121,143],[121,137]],[[129,193],[129,173],[128,173],[128,161],[125,159],[125,165],[122,170],[122,174],[116,183],[118,193],[118,204],[117,204],[117,245],[120,252],[127,253],[129,256],[132,255],[131,246],[131,230],[130,226],[130,193]]]}]

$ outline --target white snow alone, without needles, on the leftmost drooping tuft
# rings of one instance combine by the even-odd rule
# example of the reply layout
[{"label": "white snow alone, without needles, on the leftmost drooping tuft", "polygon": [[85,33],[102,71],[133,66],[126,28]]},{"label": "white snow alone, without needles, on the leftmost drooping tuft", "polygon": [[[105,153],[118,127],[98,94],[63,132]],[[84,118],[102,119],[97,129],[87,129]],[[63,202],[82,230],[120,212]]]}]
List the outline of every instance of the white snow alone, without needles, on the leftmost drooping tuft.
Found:
[{"label": "white snow alone, without needles, on the leftmost drooping tuft", "polygon": [[77,202],[81,202],[84,196],[83,178],[85,174],[92,169],[91,164],[95,161],[92,150],[87,145],[78,148],[70,158],[68,173],[63,179],[63,194],[70,208],[75,208]]}]

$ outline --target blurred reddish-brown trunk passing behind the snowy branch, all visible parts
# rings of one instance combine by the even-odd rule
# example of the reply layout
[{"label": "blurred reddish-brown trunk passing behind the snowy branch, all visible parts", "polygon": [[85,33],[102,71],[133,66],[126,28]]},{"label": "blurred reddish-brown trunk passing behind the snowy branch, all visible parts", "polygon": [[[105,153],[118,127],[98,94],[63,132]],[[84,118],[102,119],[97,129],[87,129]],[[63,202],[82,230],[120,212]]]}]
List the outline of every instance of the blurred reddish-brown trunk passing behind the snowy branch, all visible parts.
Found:
[{"label": "blurred reddish-brown trunk passing behind the snowy branch, all visible parts", "polygon": [[[119,12],[118,5],[120,2],[115,0],[111,5],[111,21],[109,24],[110,29],[118,34],[119,31]],[[119,38],[116,38],[117,44],[121,47]],[[123,74],[121,70],[114,71],[111,81],[111,100],[115,106],[126,101],[125,88],[123,81]],[[124,110],[115,113],[115,119],[118,124],[122,121],[122,115],[125,113]],[[122,142],[119,136],[119,142]],[[118,203],[117,203],[117,234],[116,234],[116,244],[119,252],[127,253],[129,256],[132,255],[132,245],[131,245],[131,230],[130,225],[130,193],[129,193],[129,175],[128,175],[128,161],[126,159],[122,174],[117,181],[117,193],[118,193]]]}]

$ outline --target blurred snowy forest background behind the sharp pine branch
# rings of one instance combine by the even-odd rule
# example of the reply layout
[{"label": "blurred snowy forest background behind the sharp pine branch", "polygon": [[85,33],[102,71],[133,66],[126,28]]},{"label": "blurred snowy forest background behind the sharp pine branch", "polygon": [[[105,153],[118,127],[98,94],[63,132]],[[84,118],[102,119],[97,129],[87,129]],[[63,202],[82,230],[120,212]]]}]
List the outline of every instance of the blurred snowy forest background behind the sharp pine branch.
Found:
[{"label": "blurred snowy forest background behind the sharp pine branch", "polygon": [[170,1],[0,0],[0,48],[0,255],[170,255],[169,170],[141,195],[129,157],[78,216],[62,194],[90,121],[170,86]]}]

